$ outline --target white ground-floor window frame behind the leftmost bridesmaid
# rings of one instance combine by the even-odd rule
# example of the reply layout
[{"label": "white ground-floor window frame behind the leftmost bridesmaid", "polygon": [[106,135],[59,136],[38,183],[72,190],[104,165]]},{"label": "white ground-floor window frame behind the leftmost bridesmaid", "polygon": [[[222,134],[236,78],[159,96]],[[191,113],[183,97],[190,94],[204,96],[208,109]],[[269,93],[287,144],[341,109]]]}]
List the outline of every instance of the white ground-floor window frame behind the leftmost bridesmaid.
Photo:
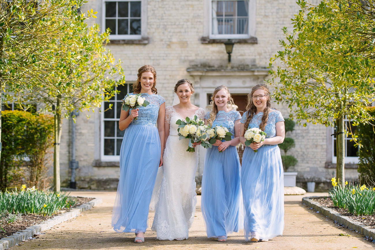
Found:
[{"label": "white ground-floor window frame behind the leftmost bridesmaid", "polygon": [[[127,84],[127,92],[129,92],[129,88],[130,88],[130,85],[131,83],[126,83]],[[116,98],[115,100],[121,100],[122,98],[124,98],[126,93],[121,93],[121,95],[123,95],[123,97],[119,97],[119,98]],[[117,94],[116,94],[117,95]],[[111,102],[113,103],[113,102]],[[116,104],[116,102],[114,102]],[[112,109],[114,109],[114,113],[117,114],[117,105],[113,105],[112,106]],[[118,118],[105,118],[104,119],[104,102],[102,103],[102,106],[101,106],[101,122],[100,122],[100,155],[101,155],[101,161],[119,161],[120,160],[120,155],[104,155],[104,121],[120,121],[120,117]],[[116,153],[117,152],[117,141],[118,138],[120,137],[113,137],[113,139],[115,139],[115,148],[114,148],[114,152]]]}]

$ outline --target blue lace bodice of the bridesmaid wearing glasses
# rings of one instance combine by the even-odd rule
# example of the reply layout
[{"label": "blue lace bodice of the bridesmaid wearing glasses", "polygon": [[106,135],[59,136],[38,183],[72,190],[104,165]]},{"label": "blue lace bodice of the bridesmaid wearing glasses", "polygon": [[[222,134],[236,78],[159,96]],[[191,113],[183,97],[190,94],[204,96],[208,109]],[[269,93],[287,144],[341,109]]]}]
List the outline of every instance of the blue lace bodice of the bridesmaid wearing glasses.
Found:
[{"label": "blue lace bodice of the bridesmaid wearing glasses", "polygon": [[[254,115],[251,119],[251,122],[248,128],[259,128],[259,125],[262,122],[263,112],[259,112],[258,114]],[[248,112],[245,112],[242,116],[241,123],[245,124],[246,119],[248,118]],[[281,115],[281,112],[276,109],[271,109],[270,113],[268,114],[268,121],[264,132],[267,133],[266,138],[272,138],[276,136],[276,123],[284,121],[284,118]],[[267,146],[274,146],[269,144],[264,144],[264,147]]]}]

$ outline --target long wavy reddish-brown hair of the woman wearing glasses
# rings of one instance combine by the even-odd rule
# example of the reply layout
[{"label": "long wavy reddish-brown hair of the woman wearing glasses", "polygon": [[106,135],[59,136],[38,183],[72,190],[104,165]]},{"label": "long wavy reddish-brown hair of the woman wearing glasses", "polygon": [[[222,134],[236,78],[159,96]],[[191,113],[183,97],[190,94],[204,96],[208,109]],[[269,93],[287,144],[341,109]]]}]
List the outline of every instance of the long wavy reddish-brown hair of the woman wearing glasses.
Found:
[{"label": "long wavy reddish-brown hair of the woman wearing glasses", "polygon": [[255,85],[251,89],[251,93],[248,94],[248,105],[246,106],[246,110],[248,110],[248,113],[247,113],[247,118],[246,118],[246,122],[245,122],[245,125],[244,125],[245,126],[244,134],[245,134],[246,129],[248,129],[248,126],[249,126],[251,120],[253,119],[255,113],[257,112],[257,107],[253,103],[252,96],[253,96],[254,92],[258,89],[263,89],[264,92],[266,92],[266,95],[268,97],[267,98],[267,105],[266,105],[266,108],[264,109],[263,116],[262,116],[262,122],[260,123],[259,128],[262,131],[264,131],[264,129],[266,128],[267,122],[268,122],[268,115],[269,115],[270,109],[271,109],[270,90],[268,89],[266,84],[261,83],[261,84]]}]

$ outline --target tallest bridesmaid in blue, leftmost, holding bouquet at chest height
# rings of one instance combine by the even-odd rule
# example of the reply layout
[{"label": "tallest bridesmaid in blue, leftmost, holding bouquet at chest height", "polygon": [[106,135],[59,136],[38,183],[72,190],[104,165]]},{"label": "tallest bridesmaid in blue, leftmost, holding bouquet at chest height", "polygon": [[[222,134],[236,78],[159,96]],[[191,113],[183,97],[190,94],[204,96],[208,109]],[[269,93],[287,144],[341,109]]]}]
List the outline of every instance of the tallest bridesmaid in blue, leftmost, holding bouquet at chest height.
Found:
[{"label": "tallest bridesmaid in blue, leftmost, holding bouquet at chest height", "polygon": [[[163,163],[161,143],[164,143],[165,100],[157,95],[153,67],[142,66],[137,76],[131,94],[141,94],[150,104],[121,110],[118,127],[121,131],[125,129],[125,133],[120,150],[120,180],[112,226],[116,232],[135,233],[134,242],[142,243],[157,169]],[[136,117],[138,119],[133,120]]]}]

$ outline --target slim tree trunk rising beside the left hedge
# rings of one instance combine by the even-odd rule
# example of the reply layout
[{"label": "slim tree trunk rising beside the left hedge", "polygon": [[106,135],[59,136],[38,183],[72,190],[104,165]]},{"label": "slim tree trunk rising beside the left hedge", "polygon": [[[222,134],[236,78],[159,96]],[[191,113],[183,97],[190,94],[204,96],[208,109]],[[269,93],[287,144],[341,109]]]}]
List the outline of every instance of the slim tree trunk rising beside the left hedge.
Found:
[{"label": "slim tree trunk rising beside the left hedge", "polygon": [[53,184],[54,191],[60,192],[60,140],[61,140],[61,95],[57,96],[56,110],[55,110],[55,143],[53,152]]}]

